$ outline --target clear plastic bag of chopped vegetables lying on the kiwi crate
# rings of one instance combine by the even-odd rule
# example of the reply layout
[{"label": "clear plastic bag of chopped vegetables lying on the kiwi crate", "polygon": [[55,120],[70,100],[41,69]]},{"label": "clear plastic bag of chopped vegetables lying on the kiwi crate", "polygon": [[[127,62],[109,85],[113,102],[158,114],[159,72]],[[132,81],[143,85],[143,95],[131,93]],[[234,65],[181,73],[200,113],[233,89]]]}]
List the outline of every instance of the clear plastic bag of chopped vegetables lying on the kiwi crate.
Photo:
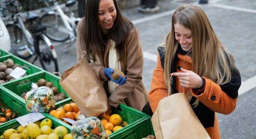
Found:
[{"label": "clear plastic bag of chopped vegetables lying on the kiwi crate", "polygon": [[52,89],[47,86],[37,87],[32,83],[33,90],[25,95],[27,112],[50,112],[54,109],[54,95]]}]

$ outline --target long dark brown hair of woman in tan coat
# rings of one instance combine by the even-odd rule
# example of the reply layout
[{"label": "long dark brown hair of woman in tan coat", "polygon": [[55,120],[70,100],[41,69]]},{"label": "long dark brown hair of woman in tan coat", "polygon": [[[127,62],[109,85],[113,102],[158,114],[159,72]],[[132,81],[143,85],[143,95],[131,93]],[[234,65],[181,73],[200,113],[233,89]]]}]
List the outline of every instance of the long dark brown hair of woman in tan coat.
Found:
[{"label": "long dark brown hair of woman in tan coat", "polygon": [[130,30],[133,28],[133,24],[121,14],[116,1],[113,0],[116,9],[116,19],[113,27],[111,27],[105,35],[99,26],[99,1],[100,0],[87,0],[86,2],[85,18],[83,20],[84,24],[81,28],[86,51],[90,56],[90,59],[95,61],[95,54],[100,55],[102,53],[102,48],[106,47],[107,40],[112,39],[116,42],[116,49],[119,60],[121,61],[124,56],[124,43]]}]

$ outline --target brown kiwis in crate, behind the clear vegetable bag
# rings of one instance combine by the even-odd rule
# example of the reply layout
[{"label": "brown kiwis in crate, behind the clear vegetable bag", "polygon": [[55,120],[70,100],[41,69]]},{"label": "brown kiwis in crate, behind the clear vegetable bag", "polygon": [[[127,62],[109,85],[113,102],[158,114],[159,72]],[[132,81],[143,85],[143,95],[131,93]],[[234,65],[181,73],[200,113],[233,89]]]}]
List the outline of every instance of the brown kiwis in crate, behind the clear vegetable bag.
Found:
[{"label": "brown kiwis in crate, behind the clear vegetable bag", "polygon": [[[47,86],[51,88],[53,95],[54,95],[54,101],[59,102],[61,100],[64,100],[67,98],[67,96],[64,93],[59,93],[59,90],[57,87],[53,86],[52,82],[47,82],[45,79],[41,78],[38,80],[38,82],[35,83],[38,87],[40,86]],[[34,88],[30,88],[30,90],[33,90]],[[24,92],[20,95],[20,97],[24,98],[26,95],[27,90],[24,90]]]}]

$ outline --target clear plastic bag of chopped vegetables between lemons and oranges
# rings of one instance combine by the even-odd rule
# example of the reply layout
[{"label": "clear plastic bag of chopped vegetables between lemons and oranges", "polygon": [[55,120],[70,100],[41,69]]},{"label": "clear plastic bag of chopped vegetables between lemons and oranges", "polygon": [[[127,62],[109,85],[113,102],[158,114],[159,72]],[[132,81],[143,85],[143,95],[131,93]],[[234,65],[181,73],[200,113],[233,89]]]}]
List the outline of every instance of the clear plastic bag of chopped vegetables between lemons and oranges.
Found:
[{"label": "clear plastic bag of chopped vegetables between lemons and oranges", "polygon": [[85,118],[84,115],[78,116],[71,126],[72,137],[75,139],[108,139],[108,135],[97,117]]}]

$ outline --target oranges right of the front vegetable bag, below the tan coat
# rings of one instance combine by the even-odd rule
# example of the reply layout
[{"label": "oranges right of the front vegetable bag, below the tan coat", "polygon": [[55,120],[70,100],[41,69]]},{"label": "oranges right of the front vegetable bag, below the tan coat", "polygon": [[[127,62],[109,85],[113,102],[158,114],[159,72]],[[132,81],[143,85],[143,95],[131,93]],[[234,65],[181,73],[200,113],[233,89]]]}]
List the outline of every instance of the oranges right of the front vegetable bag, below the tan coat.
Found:
[{"label": "oranges right of the front vegetable bag, below the tan coat", "polygon": [[112,110],[109,109],[105,113],[105,115],[101,114],[98,116],[98,118],[101,120],[101,123],[104,126],[104,129],[106,130],[106,133],[108,135],[129,125],[127,122],[122,121],[122,117],[120,115],[118,115],[118,114],[111,115],[111,113],[112,113]]}]

